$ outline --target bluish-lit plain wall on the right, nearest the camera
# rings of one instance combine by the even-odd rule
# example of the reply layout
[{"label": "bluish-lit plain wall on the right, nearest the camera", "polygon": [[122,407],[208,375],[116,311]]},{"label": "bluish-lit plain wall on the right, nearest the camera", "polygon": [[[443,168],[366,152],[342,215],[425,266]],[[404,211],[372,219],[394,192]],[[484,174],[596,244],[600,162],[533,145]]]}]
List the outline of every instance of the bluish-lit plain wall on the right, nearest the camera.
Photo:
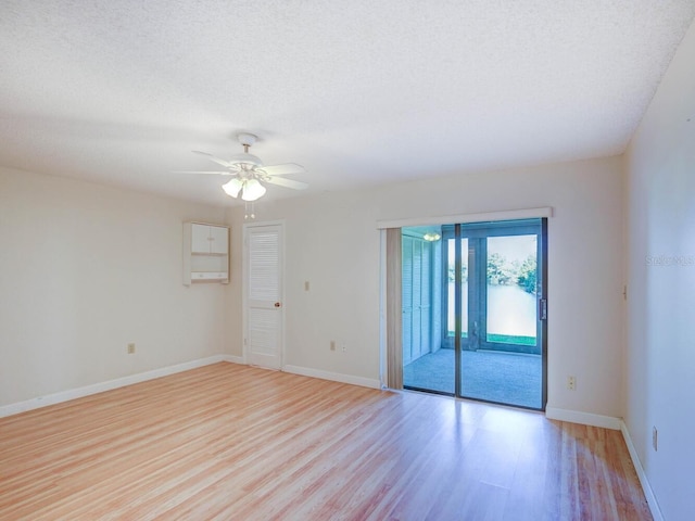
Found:
[{"label": "bluish-lit plain wall on the right, nearest the camera", "polygon": [[[626,423],[665,519],[695,511],[695,25],[627,154]],[[656,259],[655,259],[656,257]],[[658,452],[652,428],[658,428]]]}]

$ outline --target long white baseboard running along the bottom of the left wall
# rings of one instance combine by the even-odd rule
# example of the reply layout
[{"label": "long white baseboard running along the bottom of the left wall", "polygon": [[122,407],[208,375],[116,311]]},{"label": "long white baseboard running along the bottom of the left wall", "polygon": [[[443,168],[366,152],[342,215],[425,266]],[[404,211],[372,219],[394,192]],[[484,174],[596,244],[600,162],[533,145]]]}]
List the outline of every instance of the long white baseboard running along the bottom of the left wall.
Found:
[{"label": "long white baseboard running along the bottom of the left wall", "polygon": [[49,405],[61,404],[70,399],[81,398],[91,394],[103,393],[104,391],[111,391],[112,389],[118,389],[125,385],[131,385],[134,383],[153,380],[155,378],[167,377],[177,372],[188,371],[189,369],[195,369],[199,367],[208,366],[211,364],[217,364],[218,361],[236,361],[236,358],[237,357],[230,355],[215,355],[207,358],[186,361],[176,366],[163,367],[161,369],[153,369],[151,371],[140,372],[138,374],[117,378],[115,380],[93,383],[84,387],[70,389],[67,391],[61,391],[60,393],[49,394],[47,396],[38,396],[25,402],[1,406],[0,418],[25,412],[27,410],[38,409],[40,407],[47,407]]}]

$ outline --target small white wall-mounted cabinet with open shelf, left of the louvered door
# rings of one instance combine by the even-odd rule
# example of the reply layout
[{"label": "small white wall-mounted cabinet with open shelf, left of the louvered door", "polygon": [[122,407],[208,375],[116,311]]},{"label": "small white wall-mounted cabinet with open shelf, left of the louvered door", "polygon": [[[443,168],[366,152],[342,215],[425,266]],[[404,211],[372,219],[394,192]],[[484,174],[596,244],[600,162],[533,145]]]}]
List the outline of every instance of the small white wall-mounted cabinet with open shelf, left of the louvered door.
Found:
[{"label": "small white wall-mounted cabinet with open shelf, left of the louvered door", "polygon": [[184,223],[184,283],[229,281],[229,228]]}]

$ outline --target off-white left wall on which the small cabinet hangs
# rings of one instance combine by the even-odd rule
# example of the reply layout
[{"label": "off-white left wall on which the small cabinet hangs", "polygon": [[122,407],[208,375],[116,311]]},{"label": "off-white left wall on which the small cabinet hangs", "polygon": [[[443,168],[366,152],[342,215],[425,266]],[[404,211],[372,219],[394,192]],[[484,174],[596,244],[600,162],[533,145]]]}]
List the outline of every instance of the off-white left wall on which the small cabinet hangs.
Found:
[{"label": "off-white left wall on which the small cabinet hangs", "polygon": [[227,288],[181,283],[181,223],[224,218],[0,168],[0,406],[224,353]]}]

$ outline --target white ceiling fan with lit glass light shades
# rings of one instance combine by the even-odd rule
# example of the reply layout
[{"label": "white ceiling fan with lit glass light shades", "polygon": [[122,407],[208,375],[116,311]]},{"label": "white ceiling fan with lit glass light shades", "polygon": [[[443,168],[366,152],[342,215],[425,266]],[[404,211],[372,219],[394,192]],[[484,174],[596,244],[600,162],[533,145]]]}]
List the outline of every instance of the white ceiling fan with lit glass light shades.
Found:
[{"label": "white ceiling fan with lit glass light shades", "polygon": [[281,176],[288,174],[301,174],[306,171],[303,166],[294,163],[282,165],[264,166],[263,162],[255,155],[249,153],[249,148],[256,142],[257,136],[253,134],[240,134],[237,139],[243,147],[243,153],[232,156],[230,160],[220,160],[207,152],[194,150],[197,154],[204,155],[210,161],[226,168],[224,171],[195,170],[181,171],[180,174],[218,174],[220,176],[235,176],[227,183],[223,185],[223,190],[227,195],[237,198],[241,193],[241,199],[248,202],[261,199],[266,188],[263,183],[277,185],[278,187],[291,188],[293,190],[304,190],[307,183],[285,179]]}]

